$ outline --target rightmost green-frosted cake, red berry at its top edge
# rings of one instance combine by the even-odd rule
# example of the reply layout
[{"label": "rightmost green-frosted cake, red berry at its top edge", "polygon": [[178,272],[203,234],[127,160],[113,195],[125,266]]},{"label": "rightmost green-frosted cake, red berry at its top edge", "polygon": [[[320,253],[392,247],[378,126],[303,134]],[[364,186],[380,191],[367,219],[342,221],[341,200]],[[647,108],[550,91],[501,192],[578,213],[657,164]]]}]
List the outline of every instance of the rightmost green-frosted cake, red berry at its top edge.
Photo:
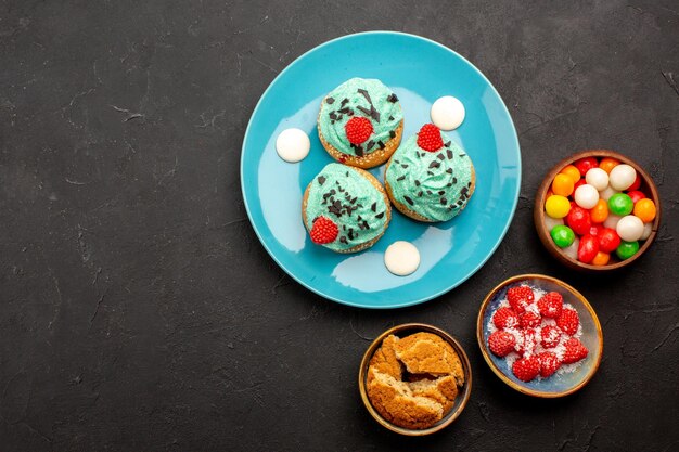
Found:
[{"label": "rightmost green-frosted cake, red berry at its top edge", "polygon": [[409,138],[392,156],[385,189],[394,206],[420,221],[448,221],[466,206],[476,184],[464,150],[433,124]]}]

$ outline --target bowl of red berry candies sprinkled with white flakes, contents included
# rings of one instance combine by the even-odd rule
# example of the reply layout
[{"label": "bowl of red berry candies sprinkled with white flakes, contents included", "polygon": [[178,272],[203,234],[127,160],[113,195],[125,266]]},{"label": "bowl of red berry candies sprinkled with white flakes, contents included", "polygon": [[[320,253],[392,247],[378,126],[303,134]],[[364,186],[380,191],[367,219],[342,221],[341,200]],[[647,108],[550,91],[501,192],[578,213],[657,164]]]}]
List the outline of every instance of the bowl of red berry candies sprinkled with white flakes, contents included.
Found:
[{"label": "bowl of red berry candies sprinkled with white flakes, contents included", "polygon": [[603,350],[601,324],[587,299],[541,274],[513,276],[490,290],[478,312],[476,337],[502,382],[542,398],[584,387]]}]

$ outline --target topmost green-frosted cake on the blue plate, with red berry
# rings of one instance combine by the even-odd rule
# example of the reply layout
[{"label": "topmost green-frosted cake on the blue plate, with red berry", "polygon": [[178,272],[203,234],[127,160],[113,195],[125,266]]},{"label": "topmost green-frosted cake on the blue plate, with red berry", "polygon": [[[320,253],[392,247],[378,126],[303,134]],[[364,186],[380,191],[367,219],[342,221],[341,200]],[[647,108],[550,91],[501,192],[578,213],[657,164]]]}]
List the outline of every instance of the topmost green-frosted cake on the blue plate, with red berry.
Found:
[{"label": "topmost green-frosted cake on the blue plate, with red berry", "polygon": [[403,113],[396,94],[376,79],[351,78],[332,90],[318,115],[318,135],[337,162],[382,165],[398,147]]}]

